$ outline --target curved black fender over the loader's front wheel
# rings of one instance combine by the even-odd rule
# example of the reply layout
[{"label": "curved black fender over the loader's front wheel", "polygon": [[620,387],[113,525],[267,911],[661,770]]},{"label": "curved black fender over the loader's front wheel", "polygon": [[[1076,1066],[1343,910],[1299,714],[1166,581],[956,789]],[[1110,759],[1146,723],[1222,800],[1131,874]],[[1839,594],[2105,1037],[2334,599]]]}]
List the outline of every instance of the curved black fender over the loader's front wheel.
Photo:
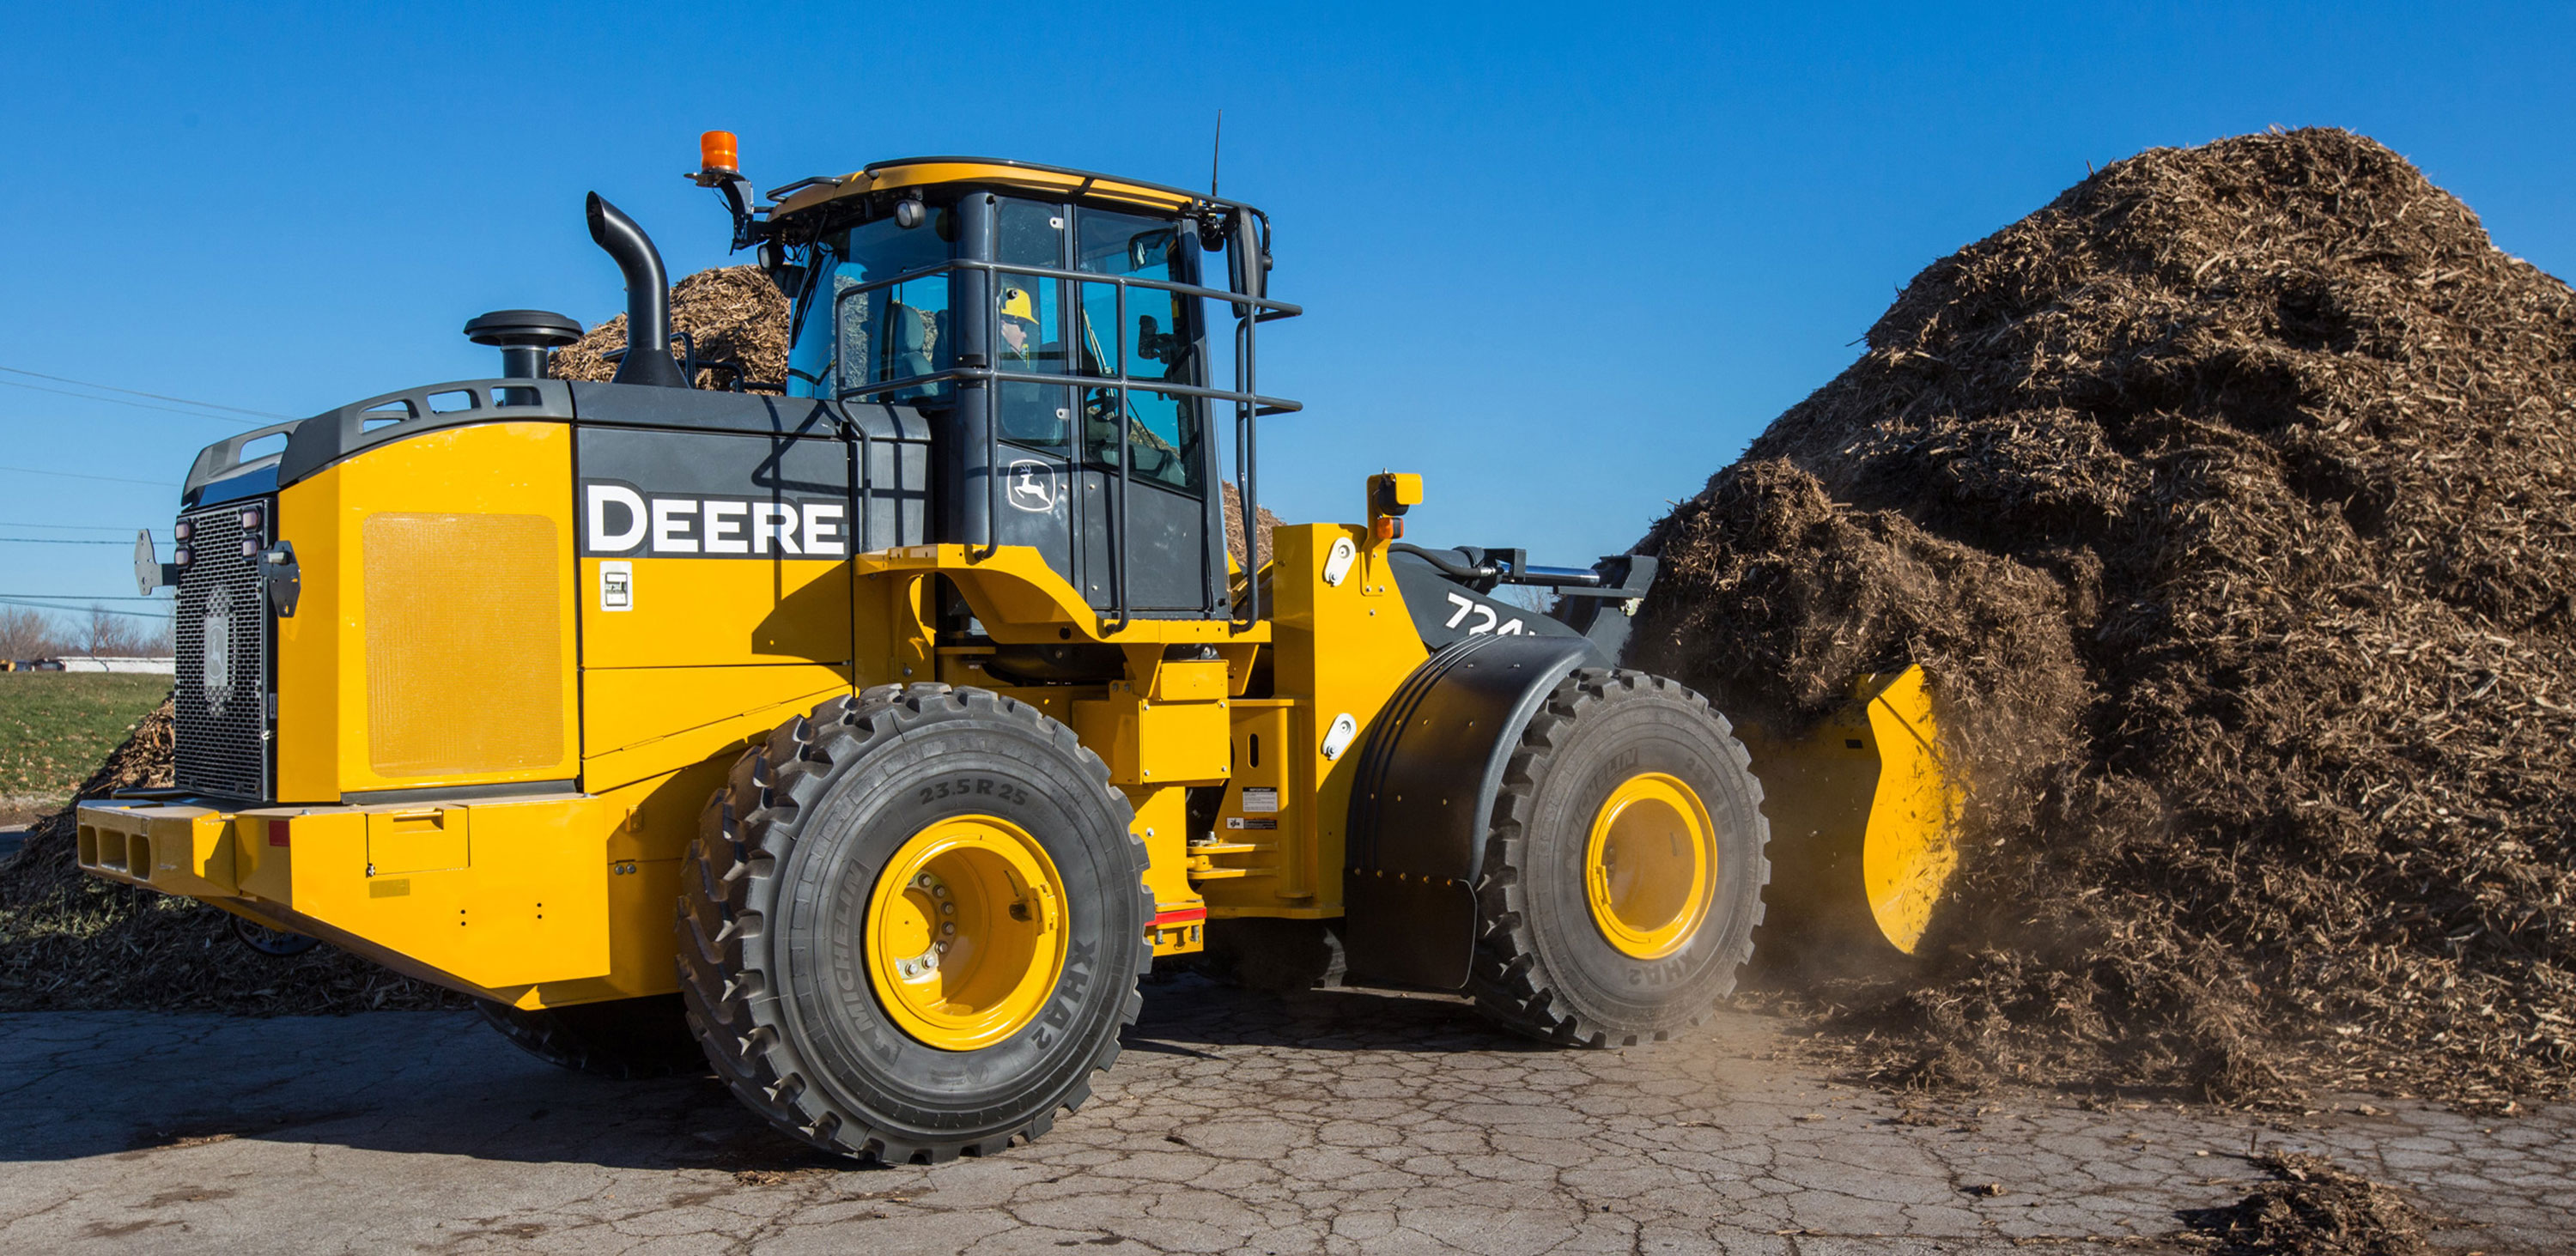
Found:
[{"label": "curved black fender over the loader's front wheel", "polygon": [[1556,682],[1587,664],[1600,659],[1579,636],[1468,636],[1425,659],[1378,710],[1342,860],[1355,978],[1466,986],[1502,772]]}]

